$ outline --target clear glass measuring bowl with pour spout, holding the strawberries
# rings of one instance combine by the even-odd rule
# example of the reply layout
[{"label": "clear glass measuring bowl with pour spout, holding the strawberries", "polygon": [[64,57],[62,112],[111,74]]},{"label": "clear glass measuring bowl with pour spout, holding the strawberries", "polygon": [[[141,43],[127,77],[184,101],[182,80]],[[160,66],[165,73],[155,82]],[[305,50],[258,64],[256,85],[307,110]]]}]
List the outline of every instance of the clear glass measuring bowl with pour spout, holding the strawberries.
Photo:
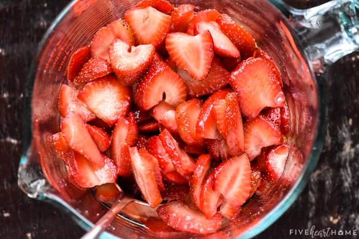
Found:
[{"label": "clear glass measuring bowl with pour spout, holding the strawberries", "polygon": [[[41,41],[29,75],[25,94],[25,150],[18,171],[19,186],[29,197],[49,202],[69,212],[85,230],[108,208],[97,202],[89,191],[73,186],[68,181],[65,166],[56,156],[51,135],[59,132],[59,86],[66,81],[66,66],[72,52],[90,44],[92,36],[99,28],[122,17],[126,9],[134,6],[136,2],[71,2],[56,17]],[[272,2],[293,13],[293,9],[283,3]],[[293,203],[305,186],[320,155],[326,127],[327,102],[324,81],[317,82],[314,77],[310,63],[314,58],[309,59],[305,52],[313,44],[309,46],[305,43],[303,34],[298,35],[296,32],[300,28],[293,27],[293,23],[267,1],[181,0],[172,3],[191,3],[200,7],[198,11],[214,8],[229,14],[245,26],[256,39],[258,46],[272,56],[283,76],[284,91],[291,114],[288,141],[302,152],[303,164],[294,163],[295,160],[292,159],[297,156],[297,151],[291,150],[284,175],[291,176],[292,181],[280,179],[269,185],[261,195],[256,195],[245,204],[236,220],[225,220],[221,230],[211,237],[250,238],[270,226]],[[326,62],[320,62],[320,66],[325,66]],[[316,69],[321,69],[320,66],[316,65]],[[131,204],[117,216],[101,238],[160,237],[161,235],[144,226],[146,220],[155,216],[154,209]],[[165,237],[188,238],[203,235],[178,232]]]}]

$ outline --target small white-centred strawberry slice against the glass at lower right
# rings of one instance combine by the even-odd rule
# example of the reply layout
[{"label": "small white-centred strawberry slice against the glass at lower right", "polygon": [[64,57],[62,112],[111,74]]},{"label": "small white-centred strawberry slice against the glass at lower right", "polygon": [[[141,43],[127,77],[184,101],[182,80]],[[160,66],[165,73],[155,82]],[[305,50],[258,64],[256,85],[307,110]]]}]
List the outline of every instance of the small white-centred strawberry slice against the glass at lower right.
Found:
[{"label": "small white-centred strawberry slice against the glass at lower right", "polygon": [[274,182],[282,176],[289,155],[289,149],[289,144],[282,144],[268,152],[266,160],[267,172],[270,179]]}]

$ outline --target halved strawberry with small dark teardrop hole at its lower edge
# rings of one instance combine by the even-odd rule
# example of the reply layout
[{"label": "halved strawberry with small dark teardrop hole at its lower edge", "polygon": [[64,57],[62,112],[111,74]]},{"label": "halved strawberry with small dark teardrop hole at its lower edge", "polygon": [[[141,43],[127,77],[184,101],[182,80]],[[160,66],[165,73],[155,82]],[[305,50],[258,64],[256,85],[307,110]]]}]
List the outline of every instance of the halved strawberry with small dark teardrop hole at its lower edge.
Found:
[{"label": "halved strawberry with small dark teardrop hole at its lower edge", "polygon": [[135,103],[142,110],[149,110],[160,101],[177,106],[186,100],[186,85],[163,61],[152,62],[146,76],[135,91]]}]

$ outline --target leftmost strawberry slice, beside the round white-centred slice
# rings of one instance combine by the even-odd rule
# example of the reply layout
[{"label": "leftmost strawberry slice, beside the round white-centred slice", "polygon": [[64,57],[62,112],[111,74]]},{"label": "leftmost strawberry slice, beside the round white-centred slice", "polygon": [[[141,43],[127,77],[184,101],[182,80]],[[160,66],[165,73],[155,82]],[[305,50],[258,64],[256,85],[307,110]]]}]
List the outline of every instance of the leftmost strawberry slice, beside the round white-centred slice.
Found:
[{"label": "leftmost strawberry slice, beside the round white-centred slice", "polygon": [[58,94],[58,111],[62,117],[65,117],[69,112],[77,113],[85,122],[96,118],[89,108],[76,97],[77,91],[67,84],[61,85]]}]

